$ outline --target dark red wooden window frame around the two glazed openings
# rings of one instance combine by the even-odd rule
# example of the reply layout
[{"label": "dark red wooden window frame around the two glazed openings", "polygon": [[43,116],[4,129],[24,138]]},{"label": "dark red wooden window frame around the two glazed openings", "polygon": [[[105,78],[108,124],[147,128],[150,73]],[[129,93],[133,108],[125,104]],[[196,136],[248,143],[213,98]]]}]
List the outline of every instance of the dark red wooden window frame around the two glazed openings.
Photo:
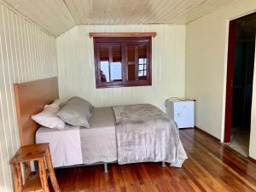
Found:
[{"label": "dark red wooden window frame around the two glazed openings", "polygon": [[[99,49],[101,45],[112,46],[113,44],[119,44],[121,47],[121,56],[122,56],[122,81],[119,82],[102,82],[100,75],[100,61],[99,61]],[[135,81],[127,81],[127,66],[126,63],[127,55],[125,54],[125,45],[127,44],[137,44],[138,46],[147,45],[147,79],[138,80],[138,56],[137,61],[135,61],[136,67],[136,79]],[[138,52],[137,52],[138,54]],[[94,59],[95,59],[95,76],[96,76],[96,89],[102,88],[116,88],[116,87],[131,87],[131,86],[150,86],[152,85],[152,38],[151,37],[136,37],[136,38],[94,38]],[[109,60],[113,59],[112,50],[109,53]]]}]

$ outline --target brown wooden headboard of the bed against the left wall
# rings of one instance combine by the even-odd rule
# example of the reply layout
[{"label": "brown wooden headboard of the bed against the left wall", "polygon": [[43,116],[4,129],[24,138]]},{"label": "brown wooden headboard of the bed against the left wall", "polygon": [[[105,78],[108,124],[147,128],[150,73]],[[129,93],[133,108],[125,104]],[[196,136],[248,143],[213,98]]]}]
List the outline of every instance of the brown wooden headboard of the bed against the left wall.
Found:
[{"label": "brown wooden headboard of the bed against the left wall", "polygon": [[14,88],[20,145],[33,144],[38,124],[31,119],[31,116],[42,111],[44,105],[59,98],[58,79],[14,84]]}]

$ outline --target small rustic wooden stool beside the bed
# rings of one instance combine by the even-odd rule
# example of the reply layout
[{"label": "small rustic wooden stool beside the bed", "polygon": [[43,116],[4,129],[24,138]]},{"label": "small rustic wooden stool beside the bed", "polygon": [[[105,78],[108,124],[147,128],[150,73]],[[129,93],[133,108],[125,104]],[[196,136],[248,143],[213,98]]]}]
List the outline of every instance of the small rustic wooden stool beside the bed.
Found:
[{"label": "small rustic wooden stool beside the bed", "polygon": [[[32,172],[30,162],[38,161],[38,172]],[[48,177],[55,192],[61,191],[49,153],[49,143],[33,144],[20,147],[14,158],[9,162],[13,168],[15,191],[49,192]],[[21,173],[21,165],[25,166],[25,184]],[[47,167],[46,167],[47,166]]]}]

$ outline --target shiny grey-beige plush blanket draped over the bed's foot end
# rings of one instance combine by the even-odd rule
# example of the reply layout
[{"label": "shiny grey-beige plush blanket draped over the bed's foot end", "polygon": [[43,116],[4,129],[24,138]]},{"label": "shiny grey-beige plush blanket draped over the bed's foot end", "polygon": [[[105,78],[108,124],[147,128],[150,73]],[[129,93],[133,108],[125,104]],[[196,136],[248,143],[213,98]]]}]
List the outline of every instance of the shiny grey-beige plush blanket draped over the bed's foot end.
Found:
[{"label": "shiny grey-beige plush blanket draped over the bed's foot end", "polygon": [[119,164],[165,161],[181,167],[187,155],[176,124],[150,104],[113,107]]}]

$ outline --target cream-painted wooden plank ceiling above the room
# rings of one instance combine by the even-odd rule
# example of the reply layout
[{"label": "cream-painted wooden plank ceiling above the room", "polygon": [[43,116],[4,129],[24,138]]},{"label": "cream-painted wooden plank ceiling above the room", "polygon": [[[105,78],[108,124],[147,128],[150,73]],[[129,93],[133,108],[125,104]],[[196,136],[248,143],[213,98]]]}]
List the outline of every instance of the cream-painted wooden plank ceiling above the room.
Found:
[{"label": "cream-painted wooden plank ceiling above the room", "polygon": [[55,36],[75,25],[186,24],[237,0],[3,0]]}]

